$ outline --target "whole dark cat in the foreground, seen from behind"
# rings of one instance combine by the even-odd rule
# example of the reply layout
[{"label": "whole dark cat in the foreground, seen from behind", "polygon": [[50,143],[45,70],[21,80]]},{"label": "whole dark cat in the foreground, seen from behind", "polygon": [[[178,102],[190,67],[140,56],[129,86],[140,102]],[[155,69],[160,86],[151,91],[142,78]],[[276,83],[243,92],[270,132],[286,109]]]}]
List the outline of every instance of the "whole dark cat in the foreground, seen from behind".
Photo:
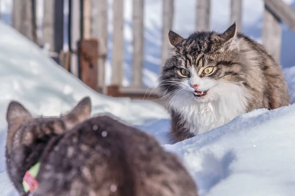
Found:
[{"label": "whole dark cat in the foreground, seen from behind", "polygon": [[[198,195],[181,162],[152,136],[107,116],[88,119],[89,99],[79,105],[71,118],[47,120],[9,104],[7,166],[19,192],[25,172],[39,161],[32,196]],[[74,119],[88,120],[65,131]]]}]

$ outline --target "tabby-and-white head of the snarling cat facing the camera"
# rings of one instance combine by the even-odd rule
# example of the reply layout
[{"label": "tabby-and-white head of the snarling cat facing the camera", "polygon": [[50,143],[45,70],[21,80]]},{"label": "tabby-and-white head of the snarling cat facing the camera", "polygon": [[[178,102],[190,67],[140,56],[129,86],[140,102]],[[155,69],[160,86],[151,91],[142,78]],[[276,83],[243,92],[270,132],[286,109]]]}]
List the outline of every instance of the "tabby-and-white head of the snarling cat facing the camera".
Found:
[{"label": "tabby-and-white head of the snarling cat facing the camera", "polygon": [[172,54],[162,67],[158,88],[174,100],[208,102],[236,90],[244,69],[236,23],[225,32],[200,31],[183,38],[169,32]]}]

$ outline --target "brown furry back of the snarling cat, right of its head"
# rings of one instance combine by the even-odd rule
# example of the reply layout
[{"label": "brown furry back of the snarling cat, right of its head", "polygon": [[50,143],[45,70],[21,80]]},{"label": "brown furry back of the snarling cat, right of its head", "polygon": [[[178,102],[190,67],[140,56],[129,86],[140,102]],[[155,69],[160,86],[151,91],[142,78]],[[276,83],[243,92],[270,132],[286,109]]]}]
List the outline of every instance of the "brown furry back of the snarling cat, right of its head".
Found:
[{"label": "brown furry back of the snarling cat, right of its head", "polygon": [[[241,33],[238,33],[237,37],[242,53],[246,54],[243,57],[245,58],[244,62],[248,62],[249,75],[255,78],[261,78],[261,83],[253,82],[252,86],[252,88],[262,93],[261,97],[256,98],[257,100],[263,99],[261,107],[275,109],[289,105],[291,99],[287,81],[284,77],[282,67],[277,60],[266,51],[263,45]],[[254,97],[256,96],[254,95]],[[252,109],[255,109],[255,107]]]}]

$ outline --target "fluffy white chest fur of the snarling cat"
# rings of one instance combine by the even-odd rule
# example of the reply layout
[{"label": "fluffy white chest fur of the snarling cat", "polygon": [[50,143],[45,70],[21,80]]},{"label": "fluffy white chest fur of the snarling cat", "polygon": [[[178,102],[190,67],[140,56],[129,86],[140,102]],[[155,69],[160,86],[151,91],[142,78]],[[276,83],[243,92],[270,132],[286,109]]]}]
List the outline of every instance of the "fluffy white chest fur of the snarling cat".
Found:
[{"label": "fluffy white chest fur of the snarling cat", "polygon": [[[224,84],[210,89],[207,101],[196,101],[185,96],[172,99],[171,106],[181,115],[183,124],[193,134],[200,134],[229,123],[239,114],[246,113],[250,94],[244,87]],[[178,99],[178,100],[177,100]],[[181,122],[179,122],[181,123]]]}]

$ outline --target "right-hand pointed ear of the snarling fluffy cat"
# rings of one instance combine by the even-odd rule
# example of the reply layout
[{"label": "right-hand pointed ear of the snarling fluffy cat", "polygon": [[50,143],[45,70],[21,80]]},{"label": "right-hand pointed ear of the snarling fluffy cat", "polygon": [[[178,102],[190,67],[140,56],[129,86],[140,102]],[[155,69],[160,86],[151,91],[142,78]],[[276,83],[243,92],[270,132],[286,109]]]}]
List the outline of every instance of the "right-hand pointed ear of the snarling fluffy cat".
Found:
[{"label": "right-hand pointed ear of the snarling fluffy cat", "polygon": [[236,36],[236,22],[231,25],[224,33],[221,34],[221,37],[225,40],[225,44],[223,45],[223,50],[227,49],[238,49],[238,39]]}]

